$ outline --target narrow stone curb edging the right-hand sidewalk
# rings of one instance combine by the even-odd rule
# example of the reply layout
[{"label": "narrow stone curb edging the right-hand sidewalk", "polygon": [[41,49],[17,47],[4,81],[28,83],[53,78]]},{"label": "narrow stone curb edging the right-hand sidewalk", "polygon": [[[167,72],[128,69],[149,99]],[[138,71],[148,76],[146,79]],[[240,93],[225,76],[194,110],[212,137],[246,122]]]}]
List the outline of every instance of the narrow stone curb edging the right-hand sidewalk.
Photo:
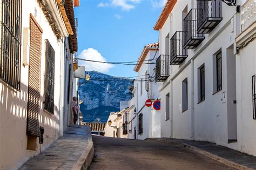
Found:
[{"label": "narrow stone curb edging the right-hand sidewalk", "polygon": [[180,145],[180,146],[183,146],[183,147],[185,147],[185,148],[187,148],[187,149],[190,149],[190,150],[192,150],[192,151],[194,151],[194,152],[197,152],[197,153],[200,153],[200,154],[202,154],[202,155],[205,155],[206,157],[211,158],[211,159],[213,159],[213,160],[215,160],[215,161],[218,161],[218,162],[220,162],[220,163],[222,163],[222,164],[224,164],[224,165],[230,166],[230,167],[232,167],[232,168],[242,169],[242,170],[245,170],[245,169],[246,169],[246,170],[247,170],[247,169],[248,169],[248,170],[253,170],[253,168],[249,168],[249,167],[247,167],[247,166],[237,164],[237,163],[235,163],[235,162],[233,162],[233,161],[224,159],[224,158],[219,157],[219,156],[217,156],[217,155],[214,155],[214,154],[212,154],[212,153],[210,153],[210,152],[206,152],[206,151],[204,151],[204,150],[202,150],[202,149],[199,149],[199,148],[197,148],[197,147],[194,147],[194,146],[185,144],[185,143],[183,143],[183,142],[173,142],[173,141],[166,141],[166,140],[152,139],[152,138],[147,138],[146,140],[153,140],[153,141],[163,142],[163,143],[168,143],[168,144],[173,144],[173,145]]}]

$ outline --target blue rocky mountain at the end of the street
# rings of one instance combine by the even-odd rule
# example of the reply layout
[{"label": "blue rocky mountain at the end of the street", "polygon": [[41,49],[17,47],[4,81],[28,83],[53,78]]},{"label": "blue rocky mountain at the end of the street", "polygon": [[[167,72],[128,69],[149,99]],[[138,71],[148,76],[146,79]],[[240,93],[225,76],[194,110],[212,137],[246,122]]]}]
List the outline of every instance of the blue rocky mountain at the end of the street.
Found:
[{"label": "blue rocky mountain at the end of the street", "polygon": [[97,71],[86,71],[90,80],[79,79],[78,94],[83,122],[106,122],[110,112],[119,111],[120,101],[130,100],[132,80]]}]

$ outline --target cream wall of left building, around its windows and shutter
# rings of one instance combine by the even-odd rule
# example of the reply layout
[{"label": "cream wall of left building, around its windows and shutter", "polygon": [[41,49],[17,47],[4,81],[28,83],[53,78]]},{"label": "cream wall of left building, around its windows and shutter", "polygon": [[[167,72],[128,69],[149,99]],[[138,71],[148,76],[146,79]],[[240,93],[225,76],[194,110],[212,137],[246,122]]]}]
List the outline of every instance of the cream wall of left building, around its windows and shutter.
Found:
[{"label": "cream wall of left building, around its windows and shutter", "polygon": [[[21,91],[16,91],[0,80],[0,169],[17,169],[26,160],[38,154],[59,138],[59,96],[60,96],[60,57],[63,55],[63,43],[58,42],[52,29],[39,8],[36,0],[22,3],[22,43],[23,29],[29,28],[30,13],[43,29],[42,61],[41,61],[41,107],[39,126],[44,127],[44,143],[39,145],[37,138],[36,151],[26,149],[26,116],[28,100],[28,71],[29,66],[21,65]],[[43,110],[44,101],[44,73],[45,73],[45,39],[49,39],[55,50],[55,112],[50,114]],[[23,53],[23,48],[22,52]],[[23,57],[23,55],[22,55]],[[21,57],[21,61],[23,58]]]}]

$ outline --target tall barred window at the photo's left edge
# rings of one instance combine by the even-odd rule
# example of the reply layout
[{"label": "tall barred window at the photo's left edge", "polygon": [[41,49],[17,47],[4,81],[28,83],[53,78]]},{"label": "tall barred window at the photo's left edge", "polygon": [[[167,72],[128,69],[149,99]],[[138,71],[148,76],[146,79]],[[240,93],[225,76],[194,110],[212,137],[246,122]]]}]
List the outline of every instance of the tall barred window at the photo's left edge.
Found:
[{"label": "tall barred window at the photo's left edge", "polygon": [[1,17],[0,78],[21,89],[21,0],[3,0]]}]

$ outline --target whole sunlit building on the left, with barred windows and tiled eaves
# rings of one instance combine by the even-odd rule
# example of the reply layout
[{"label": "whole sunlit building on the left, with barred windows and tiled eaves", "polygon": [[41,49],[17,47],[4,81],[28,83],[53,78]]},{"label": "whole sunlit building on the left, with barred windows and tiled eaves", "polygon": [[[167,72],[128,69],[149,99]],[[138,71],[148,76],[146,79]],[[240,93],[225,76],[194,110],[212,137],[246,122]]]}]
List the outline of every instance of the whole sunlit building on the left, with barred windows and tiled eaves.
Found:
[{"label": "whole sunlit building on the left, with barred windows and tiled eaves", "polygon": [[0,169],[19,168],[69,125],[67,83],[77,51],[73,3],[0,2]]}]

